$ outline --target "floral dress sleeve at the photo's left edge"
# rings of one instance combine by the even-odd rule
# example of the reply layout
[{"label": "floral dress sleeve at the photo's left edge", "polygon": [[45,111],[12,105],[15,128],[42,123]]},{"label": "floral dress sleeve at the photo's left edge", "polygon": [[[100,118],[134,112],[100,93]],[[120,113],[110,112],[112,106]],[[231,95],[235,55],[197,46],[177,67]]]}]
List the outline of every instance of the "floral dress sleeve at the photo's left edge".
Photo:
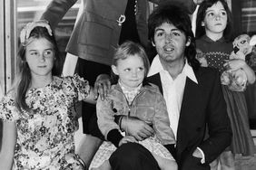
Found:
[{"label": "floral dress sleeve at the photo's left edge", "polygon": [[15,107],[15,100],[9,96],[0,99],[0,119],[3,121],[15,121],[19,118],[19,111]]}]

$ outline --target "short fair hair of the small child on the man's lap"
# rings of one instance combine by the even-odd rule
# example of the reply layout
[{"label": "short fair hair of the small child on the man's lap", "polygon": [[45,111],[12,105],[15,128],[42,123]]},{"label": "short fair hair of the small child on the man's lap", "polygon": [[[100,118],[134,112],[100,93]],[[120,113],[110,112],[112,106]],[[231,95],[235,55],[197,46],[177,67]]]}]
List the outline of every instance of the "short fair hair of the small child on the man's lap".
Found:
[{"label": "short fair hair of the small child on the man's lap", "polygon": [[[127,59],[131,55],[138,55],[143,59],[145,68],[144,77],[146,77],[150,68],[150,61],[143,46],[137,42],[123,42],[114,52],[112,65],[117,66],[117,61]],[[119,76],[111,71],[111,79],[113,84],[117,83],[118,78]]]}]

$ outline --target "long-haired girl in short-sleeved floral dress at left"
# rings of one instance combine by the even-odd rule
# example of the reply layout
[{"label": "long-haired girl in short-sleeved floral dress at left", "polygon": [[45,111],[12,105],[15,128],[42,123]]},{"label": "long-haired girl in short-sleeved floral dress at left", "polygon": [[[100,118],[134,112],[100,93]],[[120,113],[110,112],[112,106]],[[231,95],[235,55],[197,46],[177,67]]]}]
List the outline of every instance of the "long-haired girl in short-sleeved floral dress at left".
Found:
[{"label": "long-haired girl in short-sleeved floral dress at left", "polygon": [[18,57],[14,87],[0,101],[0,169],[84,169],[74,153],[74,104],[81,99],[95,103],[88,81],[59,77],[57,45],[44,27],[34,28]]}]

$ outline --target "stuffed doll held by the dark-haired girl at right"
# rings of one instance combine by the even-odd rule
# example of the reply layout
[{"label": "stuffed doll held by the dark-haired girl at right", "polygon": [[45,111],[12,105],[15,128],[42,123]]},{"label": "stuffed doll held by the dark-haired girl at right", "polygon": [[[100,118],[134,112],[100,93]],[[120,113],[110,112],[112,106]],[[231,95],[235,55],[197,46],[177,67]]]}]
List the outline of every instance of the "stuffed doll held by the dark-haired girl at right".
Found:
[{"label": "stuffed doll held by the dark-haired girl at right", "polygon": [[[256,36],[250,37],[248,34],[241,34],[233,41],[233,51],[230,60],[240,59],[246,61],[253,69],[256,68]],[[255,70],[254,70],[255,71]],[[221,81],[223,85],[227,85],[230,90],[244,91],[247,85],[247,76],[244,71],[230,71],[227,68],[222,72]]]}]

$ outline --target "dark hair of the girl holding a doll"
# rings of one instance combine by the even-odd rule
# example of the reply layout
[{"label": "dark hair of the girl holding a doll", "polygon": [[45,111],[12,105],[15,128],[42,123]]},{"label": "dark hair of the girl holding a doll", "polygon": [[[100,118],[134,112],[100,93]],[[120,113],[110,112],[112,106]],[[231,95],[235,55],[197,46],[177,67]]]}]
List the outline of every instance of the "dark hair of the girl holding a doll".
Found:
[{"label": "dark hair of the girl holding a doll", "polygon": [[198,8],[197,16],[196,16],[196,31],[195,37],[196,39],[201,38],[205,34],[205,27],[202,26],[202,21],[204,20],[206,10],[212,5],[217,4],[218,2],[222,3],[226,13],[227,13],[227,26],[224,30],[223,37],[227,42],[231,42],[233,38],[232,32],[232,17],[231,17],[231,10],[225,0],[204,0],[202,4]]}]

